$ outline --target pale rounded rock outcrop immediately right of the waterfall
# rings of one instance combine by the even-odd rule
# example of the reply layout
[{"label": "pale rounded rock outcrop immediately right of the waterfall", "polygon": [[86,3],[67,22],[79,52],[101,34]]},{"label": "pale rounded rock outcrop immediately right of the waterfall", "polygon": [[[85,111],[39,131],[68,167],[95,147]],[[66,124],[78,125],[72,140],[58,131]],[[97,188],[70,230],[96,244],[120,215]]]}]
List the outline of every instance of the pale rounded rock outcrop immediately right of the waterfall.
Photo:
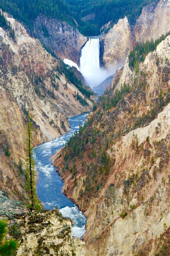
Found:
[{"label": "pale rounded rock outcrop immediately right of the waterfall", "polygon": [[[133,36],[127,17],[119,19],[106,35],[101,35],[103,47],[103,63],[105,67],[118,67],[124,60],[133,43]],[[103,41],[103,42],[102,42]]]}]

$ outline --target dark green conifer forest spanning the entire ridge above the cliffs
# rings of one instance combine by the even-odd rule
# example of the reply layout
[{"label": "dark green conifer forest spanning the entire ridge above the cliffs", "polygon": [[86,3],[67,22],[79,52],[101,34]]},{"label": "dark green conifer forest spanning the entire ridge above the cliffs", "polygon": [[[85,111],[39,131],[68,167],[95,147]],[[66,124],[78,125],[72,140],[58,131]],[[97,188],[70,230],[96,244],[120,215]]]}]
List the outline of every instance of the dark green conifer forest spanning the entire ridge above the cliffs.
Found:
[{"label": "dark green conifer forest spanning the entire ridge above the cliffs", "polygon": [[[153,2],[155,0],[1,0],[0,8],[22,21],[31,31],[33,21],[43,14],[66,21],[83,35],[91,36],[99,35],[100,27],[105,23],[111,20],[113,26],[125,15],[134,24],[143,6]],[[89,14],[93,14],[91,18],[82,20]]]}]

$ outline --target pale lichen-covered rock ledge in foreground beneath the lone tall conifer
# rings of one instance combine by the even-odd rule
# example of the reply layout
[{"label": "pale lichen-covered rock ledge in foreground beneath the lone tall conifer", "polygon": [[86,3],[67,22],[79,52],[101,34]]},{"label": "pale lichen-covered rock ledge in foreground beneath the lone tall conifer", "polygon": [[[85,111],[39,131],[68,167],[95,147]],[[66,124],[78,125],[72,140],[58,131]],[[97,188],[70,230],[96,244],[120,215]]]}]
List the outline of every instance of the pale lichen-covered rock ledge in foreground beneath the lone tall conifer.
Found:
[{"label": "pale lichen-covered rock ledge in foreground beneath the lone tall conifer", "polygon": [[60,211],[28,212],[20,201],[11,201],[0,190],[0,218],[9,220],[8,238],[19,242],[18,256],[85,255],[85,243],[72,237],[72,221]]}]

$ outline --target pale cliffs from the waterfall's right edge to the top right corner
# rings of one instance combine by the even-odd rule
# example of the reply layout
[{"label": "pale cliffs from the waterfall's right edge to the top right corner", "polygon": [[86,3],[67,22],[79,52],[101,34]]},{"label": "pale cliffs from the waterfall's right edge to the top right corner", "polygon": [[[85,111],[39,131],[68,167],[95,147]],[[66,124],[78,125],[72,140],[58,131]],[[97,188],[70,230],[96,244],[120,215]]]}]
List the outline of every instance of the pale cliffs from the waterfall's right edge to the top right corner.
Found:
[{"label": "pale cliffs from the waterfall's right edge to the top right corner", "polygon": [[133,27],[129,25],[126,17],[120,19],[105,35],[101,36],[101,56],[103,56],[104,66],[121,66],[135,41],[145,42],[151,39],[155,41],[169,30],[169,0],[160,0],[145,6]]}]

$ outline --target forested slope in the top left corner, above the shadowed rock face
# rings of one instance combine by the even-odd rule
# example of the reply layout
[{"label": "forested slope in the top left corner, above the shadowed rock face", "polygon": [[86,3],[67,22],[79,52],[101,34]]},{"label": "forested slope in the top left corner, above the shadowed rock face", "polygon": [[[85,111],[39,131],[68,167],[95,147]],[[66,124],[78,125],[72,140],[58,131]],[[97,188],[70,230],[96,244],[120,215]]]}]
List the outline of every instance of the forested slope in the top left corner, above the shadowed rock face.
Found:
[{"label": "forested slope in the top left corner, above the shadowed rock face", "polygon": [[0,8],[22,21],[31,31],[32,22],[40,14],[75,26],[73,13],[63,0],[1,0]]}]

